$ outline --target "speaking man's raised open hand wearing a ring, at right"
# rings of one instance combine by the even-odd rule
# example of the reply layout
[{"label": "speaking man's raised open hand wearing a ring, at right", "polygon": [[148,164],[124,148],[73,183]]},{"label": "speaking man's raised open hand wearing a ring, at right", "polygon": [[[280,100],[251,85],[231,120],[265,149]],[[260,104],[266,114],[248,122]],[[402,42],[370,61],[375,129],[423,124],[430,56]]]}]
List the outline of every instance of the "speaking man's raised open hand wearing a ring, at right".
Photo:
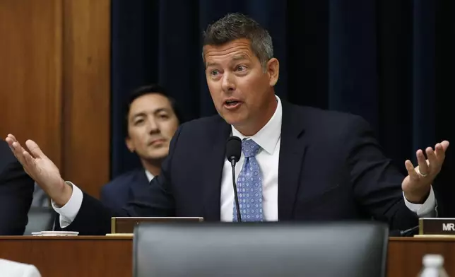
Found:
[{"label": "speaking man's raised open hand wearing a ring, at right", "polygon": [[425,202],[430,193],[432,182],[441,171],[448,147],[449,141],[437,143],[434,151],[433,148],[428,147],[425,149],[427,160],[425,160],[423,151],[419,149],[416,153],[417,167],[414,167],[410,160],[406,160],[405,166],[406,170],[408,170],[408,176],[401,183],[401,189],[403,189],[404,196],[408,201],[414,204],[423,204]]}]

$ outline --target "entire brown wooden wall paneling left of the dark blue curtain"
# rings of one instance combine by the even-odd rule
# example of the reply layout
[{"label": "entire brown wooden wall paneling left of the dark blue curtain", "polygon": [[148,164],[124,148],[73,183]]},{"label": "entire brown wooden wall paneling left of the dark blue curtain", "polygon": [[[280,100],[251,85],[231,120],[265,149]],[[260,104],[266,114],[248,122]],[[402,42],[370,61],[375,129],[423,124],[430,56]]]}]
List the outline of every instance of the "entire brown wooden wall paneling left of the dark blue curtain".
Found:
[{"label": "entire brown wooden wall paneling left of the dark blue curtain", "polygon": [[0,136],[93,196],[109,178],[110,0],[0,0]]}]

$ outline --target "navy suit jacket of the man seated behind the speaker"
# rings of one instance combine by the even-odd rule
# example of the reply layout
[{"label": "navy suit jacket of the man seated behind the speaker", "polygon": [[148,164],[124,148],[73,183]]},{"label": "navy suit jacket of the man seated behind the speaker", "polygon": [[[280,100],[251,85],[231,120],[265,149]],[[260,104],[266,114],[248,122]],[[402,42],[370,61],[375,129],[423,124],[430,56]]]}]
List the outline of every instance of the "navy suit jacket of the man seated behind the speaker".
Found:
[{"label": "navy suit jacket of the man seated behind the speaker", "polygon": [[105,184],[101,189],[100,201],[108,208],[120,211],[128,203],[128,199],[138,197],[141,189],[149,185],[143,168],[131,170]]}]

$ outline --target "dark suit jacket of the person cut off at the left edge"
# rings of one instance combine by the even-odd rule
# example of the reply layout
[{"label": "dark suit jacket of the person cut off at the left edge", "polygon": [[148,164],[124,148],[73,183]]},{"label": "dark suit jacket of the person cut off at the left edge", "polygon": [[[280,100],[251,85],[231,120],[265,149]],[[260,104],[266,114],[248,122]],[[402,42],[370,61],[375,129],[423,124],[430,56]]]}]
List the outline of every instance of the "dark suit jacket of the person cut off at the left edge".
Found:
[{"label": "dark suit jacket of the person cut off at the left edge", "polygon": [[23,235],[35,182],[0,141],[0,235]]}]

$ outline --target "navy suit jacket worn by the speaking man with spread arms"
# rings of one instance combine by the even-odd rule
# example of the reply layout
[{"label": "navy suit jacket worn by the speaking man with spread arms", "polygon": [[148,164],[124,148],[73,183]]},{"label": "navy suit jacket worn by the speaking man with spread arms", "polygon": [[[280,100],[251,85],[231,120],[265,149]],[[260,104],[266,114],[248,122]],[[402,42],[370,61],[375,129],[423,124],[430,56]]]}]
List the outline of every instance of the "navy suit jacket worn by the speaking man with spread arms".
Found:
[{"label": "navy suit jacket worn by the speaking man with spread arms", "polygon": [[[280,221],[370,220],[406,230],[401,175],[358,116],[283,102],[278,164]],[[220,220],[220,187],[230,125],[220,116],[182,124],[160,176],[115,216],[202,216]],[[114,213],[84,194],[69,230],[110,232]]]}]

